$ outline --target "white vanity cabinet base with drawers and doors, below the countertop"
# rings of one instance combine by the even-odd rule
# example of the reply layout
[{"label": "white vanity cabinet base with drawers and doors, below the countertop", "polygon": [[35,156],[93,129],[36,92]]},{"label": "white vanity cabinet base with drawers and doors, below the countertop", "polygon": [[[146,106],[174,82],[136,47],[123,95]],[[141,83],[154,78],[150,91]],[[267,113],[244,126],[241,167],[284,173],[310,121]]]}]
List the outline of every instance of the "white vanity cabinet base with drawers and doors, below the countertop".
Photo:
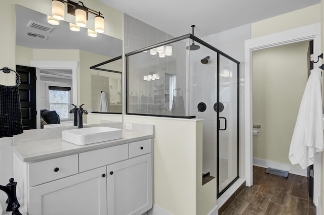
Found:
[{"label": "white vanity cabinet base with drawers and doors, below the countertop", "polygon": [[15,163],[30,215],[141,215],[152,207],[152,139]]}]

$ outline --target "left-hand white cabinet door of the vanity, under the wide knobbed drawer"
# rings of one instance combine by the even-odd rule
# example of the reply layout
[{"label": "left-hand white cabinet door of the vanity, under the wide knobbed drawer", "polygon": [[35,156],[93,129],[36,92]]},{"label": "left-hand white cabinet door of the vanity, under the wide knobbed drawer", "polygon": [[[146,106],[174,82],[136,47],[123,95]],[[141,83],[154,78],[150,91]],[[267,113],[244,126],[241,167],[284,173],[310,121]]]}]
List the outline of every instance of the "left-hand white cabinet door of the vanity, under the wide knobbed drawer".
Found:
[{"label": "left-hand white cabinet door of the vanity, under the wide knobbed drawer", "polygon": [[106,183],[106,167],[102,167],[29,188],[28,212],[33,215],[107,214]]}]

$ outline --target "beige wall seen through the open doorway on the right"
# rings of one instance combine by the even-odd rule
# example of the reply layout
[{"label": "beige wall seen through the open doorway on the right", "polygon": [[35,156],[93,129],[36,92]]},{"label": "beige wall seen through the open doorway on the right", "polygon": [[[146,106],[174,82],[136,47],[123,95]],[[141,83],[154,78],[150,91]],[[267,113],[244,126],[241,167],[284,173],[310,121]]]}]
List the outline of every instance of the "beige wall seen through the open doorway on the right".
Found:
[{"label": "beige wall seen through the open doorway on the right", "polygon": [[291,164],[288,159],[307,82],[308,41],[253,51],[253,157]]}]

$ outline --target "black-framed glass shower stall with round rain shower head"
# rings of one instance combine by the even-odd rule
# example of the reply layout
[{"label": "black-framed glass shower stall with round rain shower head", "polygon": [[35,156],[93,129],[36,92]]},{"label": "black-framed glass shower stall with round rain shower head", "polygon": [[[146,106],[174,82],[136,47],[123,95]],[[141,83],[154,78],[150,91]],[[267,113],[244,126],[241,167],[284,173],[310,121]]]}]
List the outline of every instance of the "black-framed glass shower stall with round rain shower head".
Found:
[{"label": "black-framed glass shower stall with round rain shower head", "polygon": [[126,114],[204,119],[218,198],[238,179],[239,62],[192,33],[127,53],[126,73]]}]

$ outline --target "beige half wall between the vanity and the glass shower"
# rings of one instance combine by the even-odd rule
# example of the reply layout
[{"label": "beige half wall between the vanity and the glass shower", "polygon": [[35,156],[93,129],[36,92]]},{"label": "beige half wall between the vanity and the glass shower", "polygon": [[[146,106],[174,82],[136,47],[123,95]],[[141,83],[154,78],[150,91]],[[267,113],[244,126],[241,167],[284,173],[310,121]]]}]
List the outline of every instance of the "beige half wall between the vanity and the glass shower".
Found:
[{"label": "beige half wall between the vanity and the glass shower", "polygon": [[202,185],[203,122],[130,115],[124,122],[155,125],[154,204],[177,215],[208,214],[216,205],[216,180]]}]

